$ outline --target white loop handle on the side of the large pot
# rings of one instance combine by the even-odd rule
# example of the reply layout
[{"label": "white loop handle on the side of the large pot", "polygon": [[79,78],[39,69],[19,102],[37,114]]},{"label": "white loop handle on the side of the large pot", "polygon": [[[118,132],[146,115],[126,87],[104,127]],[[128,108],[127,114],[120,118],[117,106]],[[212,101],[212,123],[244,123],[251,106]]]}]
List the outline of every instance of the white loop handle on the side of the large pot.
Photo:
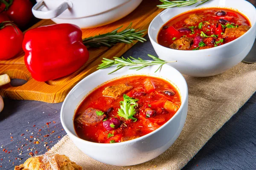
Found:
[{"label": "white loop handle on the side of the large pot", "polygon": [[58,17],[62,12],[64,12],[67,8],[72,8],[73,4],[70,1],[65,1],[61,3],[60,6],[53,10],[41,11],[42,8],[45,7],[44,0],[39,1],[32,8],[32,13],[35,17],[41,19],[52,19]]}]

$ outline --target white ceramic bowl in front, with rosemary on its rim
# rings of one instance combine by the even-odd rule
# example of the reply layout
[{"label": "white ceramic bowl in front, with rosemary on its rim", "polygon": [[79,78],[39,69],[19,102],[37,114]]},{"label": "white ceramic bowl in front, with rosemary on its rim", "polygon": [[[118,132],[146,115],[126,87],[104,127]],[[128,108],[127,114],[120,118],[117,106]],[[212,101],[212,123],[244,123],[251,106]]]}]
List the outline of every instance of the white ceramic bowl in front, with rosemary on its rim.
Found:
[{"label": "white ceramic bowl in front, with rosemary on its rim", "polygon": [[[143,68],[140,71],[122,68],[108,75],[112,68],[99,70],[81,80],[67,95],[61,108],[61,124],[74,144],[91,158],[117,166],[141,164],[154,159],[167,150],[180,135],[188,109],[188,89],[182,74],[169,65],[163,65],[160,72],[154,73],[157,66]],[[181,95],[181,106],[177,113],[163,126],[145,136],[127,142],[102,144],[88,142],[77,137],[73,116],[84,96],[102,83],[128,75],[149,75],[161,77],[175,85]],[[111,154],[111,156],[110,156]]]}]

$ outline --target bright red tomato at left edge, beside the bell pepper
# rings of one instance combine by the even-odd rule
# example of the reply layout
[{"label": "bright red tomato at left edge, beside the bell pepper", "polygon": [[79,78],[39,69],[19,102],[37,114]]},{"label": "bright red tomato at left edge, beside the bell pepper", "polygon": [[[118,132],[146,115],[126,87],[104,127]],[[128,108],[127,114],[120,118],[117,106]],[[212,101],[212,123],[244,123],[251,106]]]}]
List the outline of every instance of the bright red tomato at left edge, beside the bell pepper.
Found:
[{"label": "bright red tomato at left edge, beside the bell pepper", "polygon": [[0,60],[10,59],[22,48],[23,33],[11,22],[0,23]]}]

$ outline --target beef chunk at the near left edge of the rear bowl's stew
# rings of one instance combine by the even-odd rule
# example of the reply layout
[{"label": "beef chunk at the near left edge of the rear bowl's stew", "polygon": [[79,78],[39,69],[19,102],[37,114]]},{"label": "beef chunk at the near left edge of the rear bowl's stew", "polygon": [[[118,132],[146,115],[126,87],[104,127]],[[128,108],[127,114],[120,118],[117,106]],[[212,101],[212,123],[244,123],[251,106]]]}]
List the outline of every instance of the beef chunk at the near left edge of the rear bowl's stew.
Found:
[{"label": "beef chunk at the near left edge of the rear bowl's stew", "polygon": [[176,50],[188,50],[193,43],[193,38],[191,37],[181,37],[179,40],[174,41],[170,48]]}]

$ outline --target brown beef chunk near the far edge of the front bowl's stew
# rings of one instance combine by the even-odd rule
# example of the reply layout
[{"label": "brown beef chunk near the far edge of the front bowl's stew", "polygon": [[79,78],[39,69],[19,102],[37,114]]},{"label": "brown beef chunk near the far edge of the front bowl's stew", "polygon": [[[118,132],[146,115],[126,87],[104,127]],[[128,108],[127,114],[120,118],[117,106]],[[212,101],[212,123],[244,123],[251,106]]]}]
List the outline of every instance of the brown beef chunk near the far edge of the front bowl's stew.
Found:
[{"label": "brown beef chunk near the far edge of the front bowl's stew", "polygon": [[113,86],[106,87],[104,91],[102,91],[102,94],[103,96],[108,96],[108,97],[118,97],[131,89],[132,89],[132,86],[128,86],[125,84],[113,85]]}]

